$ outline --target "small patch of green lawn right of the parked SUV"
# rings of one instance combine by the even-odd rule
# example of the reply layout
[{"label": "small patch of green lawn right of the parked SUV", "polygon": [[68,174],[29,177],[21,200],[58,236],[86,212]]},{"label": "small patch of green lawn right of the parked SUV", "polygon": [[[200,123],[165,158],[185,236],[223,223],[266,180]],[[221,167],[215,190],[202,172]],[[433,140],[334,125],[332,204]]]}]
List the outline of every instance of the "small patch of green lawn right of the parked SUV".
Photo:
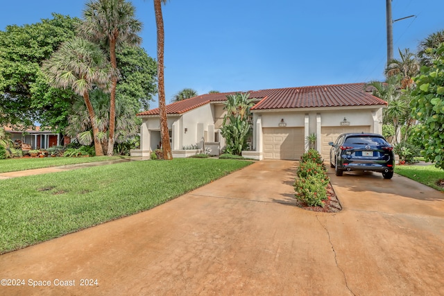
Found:
[{"label": "small patch of green lawn right of the parked SUV", "polygon": [[395,166],[395,173],[444,192],[443,187],[438,186],[437,184],[439,180],[444,180],[444,171],[436,168],[434,165]]}]

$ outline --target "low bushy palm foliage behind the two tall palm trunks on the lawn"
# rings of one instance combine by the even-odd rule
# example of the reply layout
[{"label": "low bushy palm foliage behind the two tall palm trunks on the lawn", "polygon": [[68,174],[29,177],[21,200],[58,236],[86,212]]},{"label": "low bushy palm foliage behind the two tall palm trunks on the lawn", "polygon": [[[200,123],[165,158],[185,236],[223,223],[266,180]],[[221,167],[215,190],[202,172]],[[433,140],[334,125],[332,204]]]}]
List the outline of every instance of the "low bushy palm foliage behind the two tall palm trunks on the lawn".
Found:
[{"label": "low bushy palm foliage behind the two tall palm trunks on the lawn", "polygon": [[[102,146],[108,144],[108,129],[110,125],[110,95],[100,89],[94,89],[89,95],[94,111],[96,112],[96,125],[99,128],[97,138]],[[124,143],[137,135],[136,116],[133,108],[124,105],[124,101],[116,101],[116,143]],[[82,145],[90,145],[93,139],[92,125],[89,121],[85,104],[78,100],[74,102],[71,115],[68,117],[69,125],[65,132],[71,138],[78,139]]]}]

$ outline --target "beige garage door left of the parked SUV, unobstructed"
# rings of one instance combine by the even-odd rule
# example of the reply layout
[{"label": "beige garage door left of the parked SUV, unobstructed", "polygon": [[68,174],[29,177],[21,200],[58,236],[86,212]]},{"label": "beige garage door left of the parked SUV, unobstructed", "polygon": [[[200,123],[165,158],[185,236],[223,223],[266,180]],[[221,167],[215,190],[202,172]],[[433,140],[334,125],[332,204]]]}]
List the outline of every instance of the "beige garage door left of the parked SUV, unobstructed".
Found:
[{"label": "beige garage door left of the parked SUV, unobstructed", "polygon": [[264,128],[264,159],[300,159],[304,128]]}]

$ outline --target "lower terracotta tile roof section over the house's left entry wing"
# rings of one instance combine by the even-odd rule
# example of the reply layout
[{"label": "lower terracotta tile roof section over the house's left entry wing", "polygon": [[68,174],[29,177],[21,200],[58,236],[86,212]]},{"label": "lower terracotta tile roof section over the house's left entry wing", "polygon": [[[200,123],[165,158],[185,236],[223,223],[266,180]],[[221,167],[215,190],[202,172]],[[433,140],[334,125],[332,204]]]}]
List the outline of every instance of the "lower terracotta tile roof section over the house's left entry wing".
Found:
[{"label": "lower terracotta tile roof section over the house's left entry wing", "polygon": [[[235,92],[203,94],[200,96],[195,96],[194,98],[187,98],[186,100],[183,101],[171,103],[167,105],[167,114],[182,114],[210,102],[225,101],[227,99],[226,96],[229,94],[235,94]],[[140,112],[137,115],[141,116],[141,115],[157,115],[157,114],[159,114],[159,108]]]}]

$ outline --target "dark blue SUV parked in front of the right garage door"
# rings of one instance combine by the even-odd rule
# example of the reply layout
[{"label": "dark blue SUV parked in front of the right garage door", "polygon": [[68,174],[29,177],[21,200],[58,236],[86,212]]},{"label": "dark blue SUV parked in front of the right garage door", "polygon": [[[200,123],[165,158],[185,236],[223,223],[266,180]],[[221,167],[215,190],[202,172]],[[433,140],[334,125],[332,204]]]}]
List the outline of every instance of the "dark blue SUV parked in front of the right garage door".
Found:
[{"label": "dark blue SUV parked in front of the right garage door", "polygon": [[332,146],[330,166],[336,176],[344,171],[375,171],[382,173],[384,179],[393,177],[393,147],[381,134],[340,134],[328,144]]}]

